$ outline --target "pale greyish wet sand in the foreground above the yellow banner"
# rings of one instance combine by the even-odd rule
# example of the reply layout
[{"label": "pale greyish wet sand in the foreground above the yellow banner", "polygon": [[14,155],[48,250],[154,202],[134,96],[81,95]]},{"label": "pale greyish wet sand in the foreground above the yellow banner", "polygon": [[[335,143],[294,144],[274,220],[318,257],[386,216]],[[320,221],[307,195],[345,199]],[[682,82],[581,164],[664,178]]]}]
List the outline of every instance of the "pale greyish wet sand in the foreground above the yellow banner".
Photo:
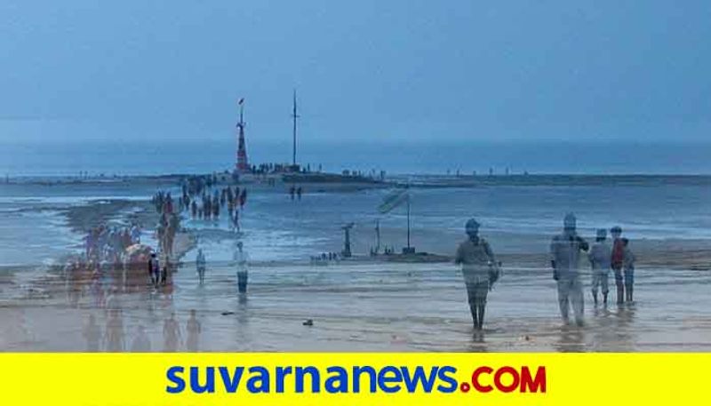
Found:
[{"label": "pale greyish wet sand in the foreground above the yellow banner", "polygon": [[[203,286],[187,262],[171,288],[157,291],[142,272],[109,272],[98,282],[49,275],[0,303],[0,322],[10,327],[0,332],[0,348],[87,350],[90,315],[106,335],[116,325],[108,322],[109,309],[116,308],[123,331],[114,333],[124,337],[124,350],[139,325],[151,350],[165,350],[163,324],[173,312],[182,329],[179,350],[188,350],[186,323],[196,310],[200,351],[708,351],[711,274],[691,269],[695,261],[686,269],[642,267],[635,303],[623,306],[612,303],[613,291],[610,305],[592,306],[584,275],[582,329],[560,321],[550,271],[510,265],[490,293],[482,334],[471,328],[461,275],[450,263],[257,263],[246,295],[237,293],[235,269],[224,262],[208,264]],[[666,293],[670,273],[683,293]],[[313,326],[302,325],[308,319]]]}]

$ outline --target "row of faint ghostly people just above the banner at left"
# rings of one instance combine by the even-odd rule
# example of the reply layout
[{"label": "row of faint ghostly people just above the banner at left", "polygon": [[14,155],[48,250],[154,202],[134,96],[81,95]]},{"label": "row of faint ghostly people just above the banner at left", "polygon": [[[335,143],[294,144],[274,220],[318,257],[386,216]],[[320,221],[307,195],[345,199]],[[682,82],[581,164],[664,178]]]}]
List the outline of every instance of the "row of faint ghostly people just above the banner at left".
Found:
[{"label": "row of faint ghostly people just above the banner at left", "polygon": [[[143,324],[137,324],[131,343],[125,339],[124,317],[121,309],[107,309],[106,329],[102,332],[94,314],[89,314],[87,322],[84,324],[82,335],[86,341],[88,352],[99,352],[102,349],[107,352],[131,351],[134,353],[147,353],[153,349],[148,331]],[[190,310],[190,316],[185,324],[186,337],[180,328],[180,322],[175,317],[175,312],[163,323],[163,352],[176,352],[183,344],[188,352],[196,352],[200,348],[200,335],[203,332],[202,324],[197,320],[196,311]]]}]

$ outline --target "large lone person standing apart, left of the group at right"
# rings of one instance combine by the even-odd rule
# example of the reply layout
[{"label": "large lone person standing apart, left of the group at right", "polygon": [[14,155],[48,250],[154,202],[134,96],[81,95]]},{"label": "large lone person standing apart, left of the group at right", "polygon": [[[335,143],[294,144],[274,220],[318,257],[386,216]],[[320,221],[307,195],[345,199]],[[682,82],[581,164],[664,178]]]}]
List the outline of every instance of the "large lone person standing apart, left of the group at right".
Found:
[{"label": "large lone person standing apart, left of the group at right", "polygon": [[459,244],[454,263],[462,266],[474,328],[482,330],[486,297],[498,278],[498,265],[489,243],[479,236],[479,223],[475,219],[467,221],[465,231],[467,241]]}]

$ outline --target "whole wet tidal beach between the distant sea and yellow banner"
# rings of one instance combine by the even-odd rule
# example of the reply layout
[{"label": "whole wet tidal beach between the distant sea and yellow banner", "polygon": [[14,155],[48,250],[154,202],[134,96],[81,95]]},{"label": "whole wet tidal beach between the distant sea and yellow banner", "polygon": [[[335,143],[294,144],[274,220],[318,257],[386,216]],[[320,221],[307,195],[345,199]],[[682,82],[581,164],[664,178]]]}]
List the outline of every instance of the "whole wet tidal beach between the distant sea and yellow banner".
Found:
[{"label": "whole wet tidal beach between the distant sea and yellow banner", "polygon": [[[15,204],[3,216],[17,215],[17,224],[27,224],[22,216],[45,215],[57,221],[57,233],[66,233],[66,240],[56,241],[66,243],[53,263],[36,263],[28,256],[25,263],[3,265],[0,323],[7,328],[0,331],[0,349],[84,351],[95,348],[98,339],[101,351],[128,351],[142,326],[150,350],[163,351],[169,349],[164,322],[171,314],[180,323],[180,351],[708,351],[711,347],[711,238],[705,234],[705,223],[698,220],[707,211],[700,204],[707,196],[707,178],[663,179],[678,189],[668,195],[659,195],[654,188],[657,179],[625,179],[622,184],[620,179],[587,178],[529,178],[523,184],[521,179],[504,177],[422,181],[413,191],[412,243],[418,251],[436,254],[436,261],[368,255],[374,244],[374,220],[381,217],[375,207],[391,185],[304,184],[303,200],[292,202],[285,192],[289,184],[253,182],[243,186],[251,197],[239,234],[229,231],[226,219],[203,221],[183,214],[175,246],[180,265],[172,284],[158,290],[148,285],[147,277],[126,275],[123,270],[109,269],[99,279],[66,275],[61,261],[80,251],[82,235],[102,222],[137,221],[144,225],[145,240],[155,242],[151,235],[157,215],[148,199],[156,189],[176,187],[174,178],[59,184],[56,179],[49,183],[43,179],[2,186],[3,202]],[[656,202],[651,203],[650,194],[656,194]],[[692,195],[685,202],[699,205],[682,207],[674,194]],[[592,200],[589,195],[597,201],[581,203]],[[639,203],[634,211],[614,205],[600,208],[606,199],[620,198]],[[639,259],[634,304],[592,306],[590,275],[583,273],[587,307],[581,329],[560,321],[555,283],[547,266],[547,246],[568,210],[579,211],[580,232],[588,239],[595,227],[622,223]],[[663,218],[665,213],[687,211],[687,222],[683,215],[667,222]],[[470,216],[482,219],[482,233],[504,264],[504,275],[490,293],[483,334],[472,330],[464,283],[451,263],[464,239],[463,221]],[[400,211],[380,219],[383,243],[398,251],[404,243],[403,219]],[[351,235],[355,257],[311,261],[321,252],[342,249],[340,227],[348,221],[356,223]],[[244,242],[251,257],[246,295],[237,293],[236,270],[230,263],[236,241]],[[194,262],[198,247],[208,259],[202,286]],[[25,258],[12,258],[16,257]],[[188,339],[192,310],[201,330],[198,337]],[[87,329],[91,318],[95,326]],[[307,320],[313,325],[304,325]],[[87,331],[99,331],[100,337]],[[108,335],[123,338],[121,348],[108,348]]]}]

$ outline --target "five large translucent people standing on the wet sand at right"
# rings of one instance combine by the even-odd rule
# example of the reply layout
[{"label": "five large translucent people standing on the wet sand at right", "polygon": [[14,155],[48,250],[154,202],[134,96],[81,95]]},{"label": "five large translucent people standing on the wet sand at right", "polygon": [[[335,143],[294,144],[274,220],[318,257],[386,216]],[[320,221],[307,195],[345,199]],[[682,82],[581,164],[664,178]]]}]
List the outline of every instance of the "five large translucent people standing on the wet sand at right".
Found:
[{"label": "five large translucent people standing on the wet sand at right", "polygon": [[[479,227],[475,219],[467,221],[467,240],[459,244],[454,259],[462,267],[475,330],[483,329],[487,295],[499,279],[501,267],[490,244],[479,236]],[[555,235],[551,241],[550,266],[557,286],[561,317],[566,324],[572,308],[576,324],[583,325],[585,300],[580,272],[580,260],[583,258],[590,264],[591,292],[595,305],[598,304],[598,290],[602,292],[603,304],[607,305],[611,271],[617,287],[617,303],[633,301],[635,254],[627,238],[622,238],[621,227],[611,227],[610,231],[611,243],[607,240],[607,230],[601,228],[596,231],[595,243],[590,246],[577,232],[575,215],[568,213],[563,219],[563,233]]]}]

